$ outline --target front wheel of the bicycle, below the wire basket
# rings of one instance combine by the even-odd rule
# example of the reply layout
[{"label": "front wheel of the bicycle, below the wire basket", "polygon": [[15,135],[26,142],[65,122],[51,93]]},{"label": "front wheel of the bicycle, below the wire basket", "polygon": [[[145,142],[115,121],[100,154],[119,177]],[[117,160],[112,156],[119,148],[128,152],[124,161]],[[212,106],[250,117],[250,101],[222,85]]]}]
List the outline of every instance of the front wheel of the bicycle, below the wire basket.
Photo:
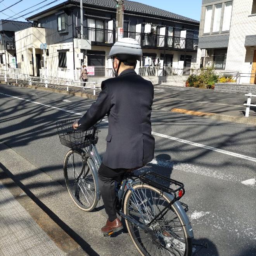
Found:
[{"label": "front wheel of the bicycle, below the wire basket", "polygon": [[[73,155],[73,152],[74,152],[74,155]],[[73,164],[73,157],[74,157],[74,161],[76,161],[76,163],[74,164]],[[74,177],[75,178],[79,177],[78,182],[75,182],[74,181],[75,179],[73,177],[72,180],[74,184],[71,182],[72,181],[71,175],[69,175],[72,173],[72,169],[70,171],[69,164],[71,168],[73,168]],[[69,192],[71,199],[74,201],[76,206],[78,206],[78,208],[80,208],[83,211],[90,212],[97,206],[98,200],[96,197],[96,192],[98,191],[98,188],[95,183],[95,177],[93,175],[93,172],[92,170],[90,170],[90,167],[88,166],[88,164],[86,163],[85,168],[83,168],[83,170],[82,170],[82,167],[83,167],[83,157],[81,152],[76,150],[74,151],[70,150],[69,152],[67,152],[64,159],[64,166],[63,166],[67,191]],[[86,175],[87,178],[83,175]],[[85,178],[86,178],[86,181],[85,181]],[[78,183],[78,185],[74,190],[74,185],[76,185],[75,183]],[[81,194],[84,195],[85,200],[84,199],[81,200],[80,198]],[[88,198],[85,195],[86,196],[88,195],[87,196]],[[88,202],[88,204],[86,203],[86,201]]]}]

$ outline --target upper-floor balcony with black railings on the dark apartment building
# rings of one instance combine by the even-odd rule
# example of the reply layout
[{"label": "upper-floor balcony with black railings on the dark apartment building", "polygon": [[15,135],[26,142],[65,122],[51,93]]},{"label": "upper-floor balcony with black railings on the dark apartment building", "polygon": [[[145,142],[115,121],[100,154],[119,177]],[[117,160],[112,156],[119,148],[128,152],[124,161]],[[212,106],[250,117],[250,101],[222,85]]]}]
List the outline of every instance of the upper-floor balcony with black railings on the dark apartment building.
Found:
[{"label": "upper-floor balcony with black railings on the dark apartment building", "polygon": [[[84,27],[84,37],[92,41],[92,45],[109,45],[115,42],[115,31],[101,28]],[[186,50],[196,52],[198,39],[180,38],[176,36],[153,35],[150,33],[137,33],[124,31],[124,37],[137,40],[142,48],[156,48],[169,50]],[[81,27],[75,28],[75,38],[81,38]]]}]

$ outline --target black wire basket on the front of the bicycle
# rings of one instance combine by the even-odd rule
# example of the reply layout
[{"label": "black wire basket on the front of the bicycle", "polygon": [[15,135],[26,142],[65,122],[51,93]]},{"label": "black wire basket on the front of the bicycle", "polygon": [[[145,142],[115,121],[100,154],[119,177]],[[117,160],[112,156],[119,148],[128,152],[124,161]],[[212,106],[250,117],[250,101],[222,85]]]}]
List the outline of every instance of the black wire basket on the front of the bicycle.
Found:
[{"label": "black wire basket on the front of the bicycle", "polygon": [[[90,145],[90,141],[94,140],[97,144],[99,137],[97,137],[99,129],[95,126],[86,131],[77,131],[73,129],[73,123],[78,119],[67,119],[57,121],[57,130],[61,144],[73,150],[84,149]],[[93,138],[93,130],[95,129],[95,137]]]}]

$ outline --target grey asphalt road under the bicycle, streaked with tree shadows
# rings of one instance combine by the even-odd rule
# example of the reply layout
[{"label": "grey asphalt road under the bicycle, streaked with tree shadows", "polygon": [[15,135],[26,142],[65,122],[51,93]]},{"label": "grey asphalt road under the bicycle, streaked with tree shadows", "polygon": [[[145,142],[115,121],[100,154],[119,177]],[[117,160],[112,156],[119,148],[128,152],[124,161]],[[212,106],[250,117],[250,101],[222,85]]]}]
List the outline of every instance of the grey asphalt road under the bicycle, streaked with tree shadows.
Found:
[{"label": "grey asphalt road under the bicycle, streaked with tree shadows", "polygon": [[[148,165],[185,183],[186,194],[181,201],[192,223],[194,241],[208,243],[208,249],[202,248],[196,255],[255,256],[256,127],[170,112],[170,104],[177,107],[177,103],[168,97],[206,101],[205,92],[182,88],[156,89],[164,91],[155,91],[152,130],[156,150],[154,160]],[[232,93],[228,103],[225,95],[219,100],[215,97],[213,103],[240,106]],[[242,95],[239,97],[244,100]],[[211,101],[210,94],[207,101]],[[67,148],[59,142],[55,122],[79,118],[78,114],[85,113],[92,102],[1,85],[0,140],[66,191],[62,164]],[[107,123],[104,123],[97,144],[100,154],[106,148],[106,135]],[[34,178],[31,189],[53,186],[40,180],[42,175],[37,179],[35,176],[36,173],[24,174],[27,182]],[[106,216],[103,209],[84,213],[73,205],[67,193],[64,195],[66,197],[60,200],[58,208],[66,212],[55,210],[57,206],[50,203],[48,207],[94,251],[99,255],[138,255],[128,234],[112,238],[100,236],[99,230]],[[45,193],[43,197],[54,198],[54,194]]]}]

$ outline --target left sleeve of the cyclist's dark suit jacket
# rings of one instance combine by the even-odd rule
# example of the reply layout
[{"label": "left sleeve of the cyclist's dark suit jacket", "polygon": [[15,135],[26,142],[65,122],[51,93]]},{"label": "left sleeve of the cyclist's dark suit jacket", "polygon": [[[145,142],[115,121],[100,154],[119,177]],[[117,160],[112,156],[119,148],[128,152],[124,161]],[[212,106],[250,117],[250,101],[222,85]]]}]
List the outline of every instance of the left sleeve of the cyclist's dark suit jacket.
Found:
[{"label": "left sleeve of the cyclist's dark suit jacket", "polygon": [[97,121],[104,118],[104,116],[111,109],[109,86],[104,82],[101,84],[101,92],[95,103],[92,104],[90,109],[78,121],[79,130],[85,131],[95,125]]}]

